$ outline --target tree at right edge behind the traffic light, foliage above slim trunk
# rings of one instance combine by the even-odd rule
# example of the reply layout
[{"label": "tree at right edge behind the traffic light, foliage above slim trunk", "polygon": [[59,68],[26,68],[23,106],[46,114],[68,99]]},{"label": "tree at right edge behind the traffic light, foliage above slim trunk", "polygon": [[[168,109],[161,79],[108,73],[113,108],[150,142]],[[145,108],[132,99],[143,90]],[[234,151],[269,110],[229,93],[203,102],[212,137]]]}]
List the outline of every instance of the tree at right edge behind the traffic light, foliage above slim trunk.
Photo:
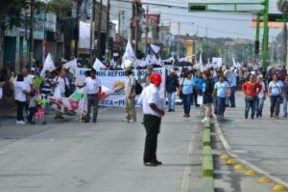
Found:
[{"label": "tree at right edge behind the traffic light, foliage above slim trunk", "polygon": [[[288,14],[288,1],[287,0],[278,0],[277,6],[280,12]],[[287,25],[284,24],[283,29],[283,64],[287,64]]]}]

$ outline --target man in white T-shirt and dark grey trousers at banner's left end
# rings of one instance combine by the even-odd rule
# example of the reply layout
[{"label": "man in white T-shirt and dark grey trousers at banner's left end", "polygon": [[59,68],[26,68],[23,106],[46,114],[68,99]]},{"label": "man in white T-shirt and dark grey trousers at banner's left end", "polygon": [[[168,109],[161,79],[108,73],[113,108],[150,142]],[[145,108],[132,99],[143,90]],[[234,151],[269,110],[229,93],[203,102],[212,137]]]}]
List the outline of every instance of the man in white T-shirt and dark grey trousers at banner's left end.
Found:
[{"label": "man in white T-shirt and dark grey trousers at banner's left end", "polygon": [[101,95],[101,82],[98,78],[96,78],[95,69],[91,69],[90,77],[85,79],[84,85],[78,85],[79,88],[84,86],[86,86],[88,100],[88,111],[84,123],[89,123],[91,107],[93,107],[92,121],[93,123],[97,123],[99,96]]}]

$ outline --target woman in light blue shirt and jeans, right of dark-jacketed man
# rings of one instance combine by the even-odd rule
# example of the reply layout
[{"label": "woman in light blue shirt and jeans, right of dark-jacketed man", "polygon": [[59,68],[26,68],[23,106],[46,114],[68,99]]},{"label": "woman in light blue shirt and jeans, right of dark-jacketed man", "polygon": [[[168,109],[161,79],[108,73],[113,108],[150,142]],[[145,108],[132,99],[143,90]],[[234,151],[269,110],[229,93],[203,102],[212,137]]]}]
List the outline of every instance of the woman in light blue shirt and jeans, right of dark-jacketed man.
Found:
[{"label": "woman in light blue shirt and jeans, right of dark-jacketed man", "polygon": [[192,71],[188,71],[186,74],[186,78],[181,83],[181,90],[183,93],[182,103],[184,107],[185,115],[183,117],[190,117],[190,109],[191,109],[191,101],[193,94],[193,87],[195,83],[192,78]]}]

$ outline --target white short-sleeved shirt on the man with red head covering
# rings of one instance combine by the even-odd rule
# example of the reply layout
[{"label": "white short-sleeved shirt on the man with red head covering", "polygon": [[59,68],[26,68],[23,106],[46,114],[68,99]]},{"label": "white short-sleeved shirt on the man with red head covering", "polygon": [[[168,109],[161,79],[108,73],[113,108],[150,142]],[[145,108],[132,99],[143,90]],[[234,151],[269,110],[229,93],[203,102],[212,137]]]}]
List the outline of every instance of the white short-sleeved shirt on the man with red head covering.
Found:
[{"label": "white short-sleeved shirt on the man with red head covering", "polygon": [[159,109],[164,109],[159,90],[154,84],[151,83],[143,89],[138,103],[142,105],[144,114],[161,117],[159,113],[151,109],[149,106],[149,104],[154,103]]}]

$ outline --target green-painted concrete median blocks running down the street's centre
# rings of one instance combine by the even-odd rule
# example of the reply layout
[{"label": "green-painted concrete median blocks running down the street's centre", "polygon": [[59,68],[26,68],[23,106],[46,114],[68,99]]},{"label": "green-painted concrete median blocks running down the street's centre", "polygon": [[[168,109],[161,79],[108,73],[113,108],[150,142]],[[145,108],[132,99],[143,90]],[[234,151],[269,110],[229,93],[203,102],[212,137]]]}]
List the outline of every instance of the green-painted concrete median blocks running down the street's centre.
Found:
[{"label": "green-painted concrete median blocks running down the street's centre", "polygon": [[211,124],[203,125],[202,136],[202,184],[203,192],[214,192],[214,167],[211,147]]}]

